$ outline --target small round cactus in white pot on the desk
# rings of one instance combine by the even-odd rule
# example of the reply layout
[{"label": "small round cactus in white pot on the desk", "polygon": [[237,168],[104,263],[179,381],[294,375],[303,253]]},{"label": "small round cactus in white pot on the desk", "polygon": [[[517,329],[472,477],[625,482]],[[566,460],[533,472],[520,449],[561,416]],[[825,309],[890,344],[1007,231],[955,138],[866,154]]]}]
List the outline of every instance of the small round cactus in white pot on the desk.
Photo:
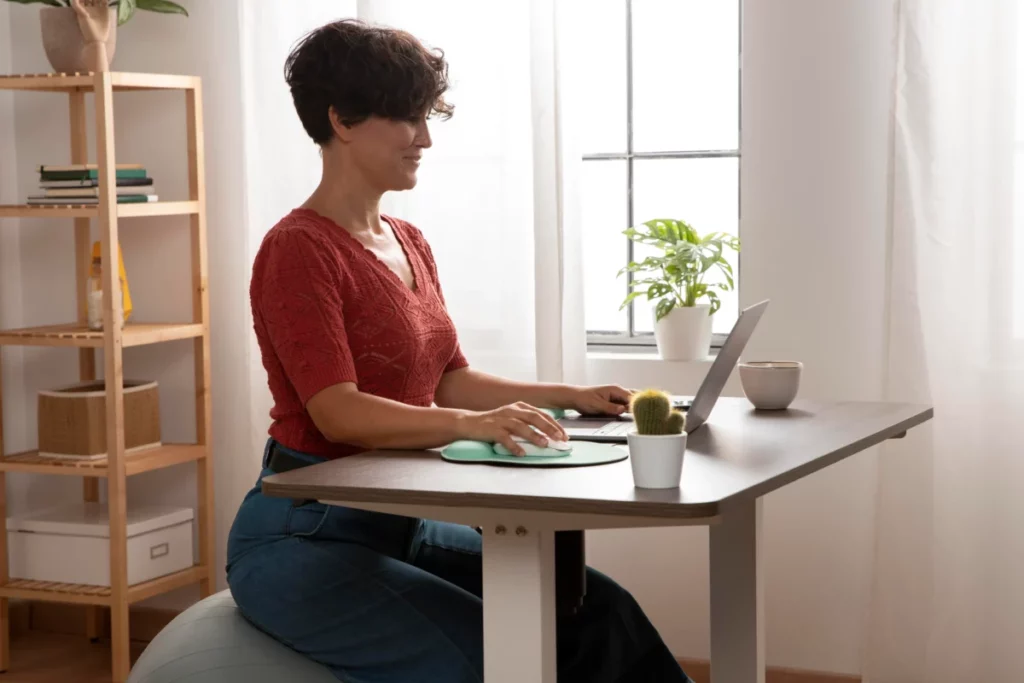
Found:
[{"label": "small round cactus in white pot on the desk", "polygon": [[633,394],[636,430],[627,435],[633,483],[639,488],[675,488],[683,474],[686,416],[672,410],[669,394],[646,389]]}]

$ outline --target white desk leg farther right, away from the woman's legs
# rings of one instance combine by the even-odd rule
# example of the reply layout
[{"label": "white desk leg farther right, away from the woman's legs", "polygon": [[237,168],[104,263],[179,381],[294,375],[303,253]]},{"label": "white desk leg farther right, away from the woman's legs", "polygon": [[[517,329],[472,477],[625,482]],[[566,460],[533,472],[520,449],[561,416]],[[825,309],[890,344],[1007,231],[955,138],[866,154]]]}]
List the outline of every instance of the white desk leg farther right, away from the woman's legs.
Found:
[{"label": "white desk leg farther right, away from the woman's legs", "polygon": [[761,499],[722,511],[711,533],[712,683],[764,683]]}]

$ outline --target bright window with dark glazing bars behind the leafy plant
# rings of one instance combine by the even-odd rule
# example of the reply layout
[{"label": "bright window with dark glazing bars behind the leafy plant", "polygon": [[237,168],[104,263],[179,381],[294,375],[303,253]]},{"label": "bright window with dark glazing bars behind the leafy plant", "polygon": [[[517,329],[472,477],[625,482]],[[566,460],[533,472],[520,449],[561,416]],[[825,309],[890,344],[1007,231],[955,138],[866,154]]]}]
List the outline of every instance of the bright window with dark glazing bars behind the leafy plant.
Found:
[{"label": "bright window with dark glazing bars behind the leafy plant", "polygon": [[[739,0],[587,7],[580,92],[601,97],[580,106],[588,113],[581,122],[588,338],[592,345],[653,344],[652,305],[641,297],[620,310],[629,280],[617,273],[643,257],[623,230],[678,218],[700,233],[738,234]],[[717,340],[736,315],[735,290],[723,293]]]}]

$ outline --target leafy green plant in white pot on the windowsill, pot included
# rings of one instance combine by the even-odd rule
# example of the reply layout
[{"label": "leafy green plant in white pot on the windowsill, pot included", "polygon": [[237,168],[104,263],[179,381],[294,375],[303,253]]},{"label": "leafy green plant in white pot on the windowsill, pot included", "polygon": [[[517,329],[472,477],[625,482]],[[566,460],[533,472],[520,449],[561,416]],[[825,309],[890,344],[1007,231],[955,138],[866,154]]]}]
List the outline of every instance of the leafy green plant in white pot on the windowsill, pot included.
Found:
[{"label": "leafy green plant in white pot on the windowsill, pot included", "polygon": [[[660,253],[630,262],[618,274],[633,273],[620,309],[644,296],[653,305],[654,337],[667,360],[697,360],[711,351],[712,316],[721,307],[718,292],[734,287],[726,248],[739,251],[739,240],[725,232],[699,234],[674,218],[656,218],[629,227],[624,234]],[[721,274],[721,281],[712,276]]]}]

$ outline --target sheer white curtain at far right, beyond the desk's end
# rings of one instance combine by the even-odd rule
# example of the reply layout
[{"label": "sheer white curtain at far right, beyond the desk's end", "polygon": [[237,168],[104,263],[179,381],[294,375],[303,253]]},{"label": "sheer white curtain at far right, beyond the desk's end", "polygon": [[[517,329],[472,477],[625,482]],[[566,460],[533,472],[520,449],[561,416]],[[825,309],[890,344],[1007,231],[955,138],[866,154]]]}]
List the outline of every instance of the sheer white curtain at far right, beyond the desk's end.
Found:
[{"label": "sheer white curtain at far right, beyond the desk's end", "polygon": [[887,392],[935,419],[883,450],[868,683],[1024,680],[1017,12],[897,2]]}]

